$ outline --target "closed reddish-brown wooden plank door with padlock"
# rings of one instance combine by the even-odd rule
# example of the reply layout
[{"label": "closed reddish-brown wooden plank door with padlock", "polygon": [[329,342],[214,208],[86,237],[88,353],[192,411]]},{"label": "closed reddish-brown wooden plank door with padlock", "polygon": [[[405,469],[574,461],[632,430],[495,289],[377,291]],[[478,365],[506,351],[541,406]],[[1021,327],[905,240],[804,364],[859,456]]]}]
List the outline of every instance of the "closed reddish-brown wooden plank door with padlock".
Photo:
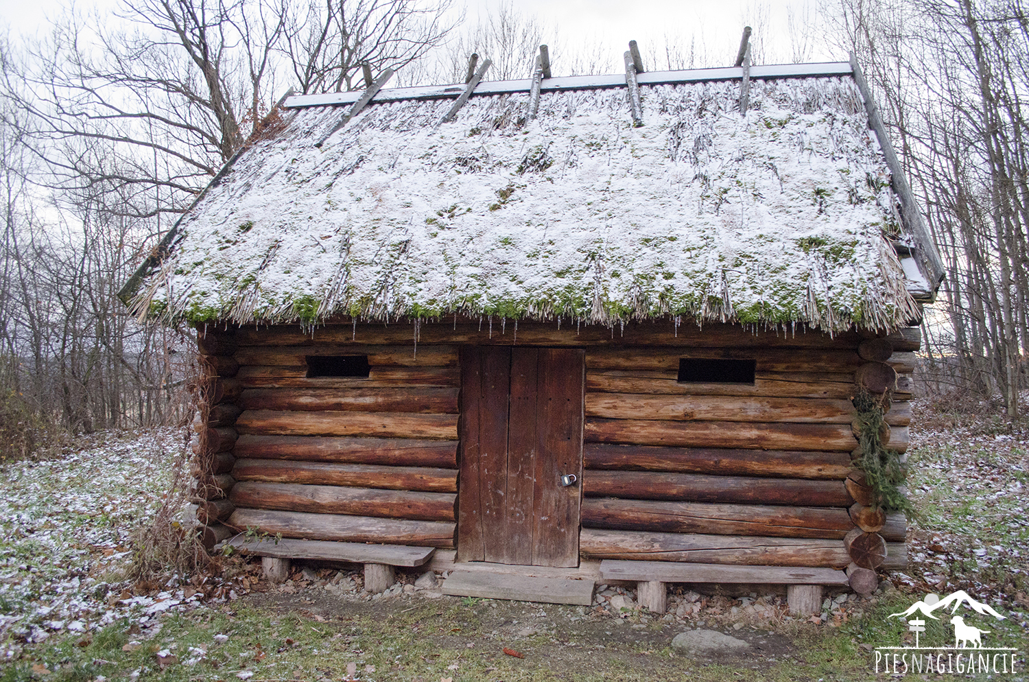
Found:
[{"label": "closed reddish-brown wooden plank door with padlock", "polygon": [[[583,360],[462,349],[458,561],[578,566]],[[578,480],[562,486],[564,474]]]}]

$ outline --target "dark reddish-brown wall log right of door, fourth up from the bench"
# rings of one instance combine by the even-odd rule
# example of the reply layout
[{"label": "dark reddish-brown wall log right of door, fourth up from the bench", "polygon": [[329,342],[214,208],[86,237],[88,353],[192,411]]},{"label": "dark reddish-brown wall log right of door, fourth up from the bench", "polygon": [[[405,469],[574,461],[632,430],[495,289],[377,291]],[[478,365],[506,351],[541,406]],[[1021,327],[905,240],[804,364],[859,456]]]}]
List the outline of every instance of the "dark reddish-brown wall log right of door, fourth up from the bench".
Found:
[{"label": "dark reddish-brown wall log right of door, fourth up from the bench", "polygon": [[583,466],[587,469],[842,480],[851,463],[850,456],[845,453],[588,443],[583,447]]}]

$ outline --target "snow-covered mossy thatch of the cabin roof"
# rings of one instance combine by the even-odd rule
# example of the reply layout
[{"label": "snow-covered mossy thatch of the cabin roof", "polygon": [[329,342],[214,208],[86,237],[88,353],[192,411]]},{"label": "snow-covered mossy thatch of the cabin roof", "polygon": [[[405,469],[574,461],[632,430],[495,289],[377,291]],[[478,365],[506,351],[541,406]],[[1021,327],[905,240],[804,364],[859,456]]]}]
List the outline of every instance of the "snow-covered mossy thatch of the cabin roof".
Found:
[{"label": "snow-covered mossy thatch of the cabin roof", "polygon": [[[801,74],[803,75],[803,74]],[[483,85],[488,85],[484,83]],[[850,76],[385,97],[282,112],[178,226],[140,315],[315,323],[687,316],[827,331],[918,314]],[[384,91],[385,92],[385,91]],[[282,110],[281,110],[282,111]],[[908,274],[910,277],[910,274]]]}]

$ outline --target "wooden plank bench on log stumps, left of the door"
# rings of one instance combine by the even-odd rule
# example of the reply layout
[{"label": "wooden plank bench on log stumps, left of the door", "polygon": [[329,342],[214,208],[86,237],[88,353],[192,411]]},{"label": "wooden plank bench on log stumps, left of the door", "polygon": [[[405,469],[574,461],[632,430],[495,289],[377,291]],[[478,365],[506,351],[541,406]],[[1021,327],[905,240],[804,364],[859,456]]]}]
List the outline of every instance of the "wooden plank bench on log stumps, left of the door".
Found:
[{"label": "wooden plank bench on log stumps, left of the door", "polygon": [[411,547],[395,544],[364,544],[361,542],[334,542],[330,540],[297,540],[283,538],[254,539],[235,537],[223,544],[238,551],[261,558],[264,576],[281,582],[289,574],[292,559],[320,559],[364,565],[364,589],[381,593],[393,584],[396,566],[415,567],[426,564],[435,547]]}]

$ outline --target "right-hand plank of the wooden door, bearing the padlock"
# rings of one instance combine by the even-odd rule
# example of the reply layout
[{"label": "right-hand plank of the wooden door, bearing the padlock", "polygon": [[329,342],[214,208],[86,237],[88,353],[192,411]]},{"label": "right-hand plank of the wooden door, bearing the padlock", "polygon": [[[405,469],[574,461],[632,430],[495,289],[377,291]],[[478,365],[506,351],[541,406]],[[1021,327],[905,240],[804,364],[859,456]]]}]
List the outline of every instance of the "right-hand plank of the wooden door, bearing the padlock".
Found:
[{"label": "right-hand plank of the wooden door, bearing the padlock", "polygon": [[[537,442],[532,563],[578,564],[581,487],[562,486],[561,476],[582,478],[583,352],[539,350],[536,398]],[[512,422],[512,428],[517,426]]]}]

